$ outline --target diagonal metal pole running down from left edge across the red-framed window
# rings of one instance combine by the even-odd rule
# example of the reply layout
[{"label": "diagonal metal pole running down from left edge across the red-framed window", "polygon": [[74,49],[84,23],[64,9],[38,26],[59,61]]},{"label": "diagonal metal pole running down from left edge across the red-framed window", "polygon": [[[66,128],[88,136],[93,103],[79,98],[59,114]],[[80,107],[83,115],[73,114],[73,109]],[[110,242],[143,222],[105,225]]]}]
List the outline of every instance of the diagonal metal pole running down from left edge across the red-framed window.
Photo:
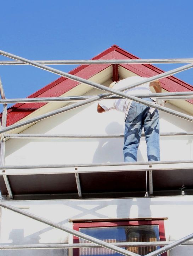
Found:
[{"label": "diagonal metal pole running down from left edge across the red-framed window", "polygon": [[58,224],[58,223],[55,223],[55,222],[52,222],[50,220],[47,220],[45,218],[42,218],[40,216],[37,216],[35,214],[32,214],[32,213],[29,213],[29,212],[26,212],[24,210],[21,210],[21,209],[18,209],[16,207],[13,207],[13,206],[10,206],[8,204],[5,204],[5,203],[2,203],[0,202],[0,206],[3,207],[3,208],[6,208],[8,210],[12,210],[13,212],[16,212],[16,213],[19,213],[19,214],[22,214],[26,217],[29,217],[31,219],[34,219],[34,220],[37,220],[39,222],[42,222],[42,223],[45,223],[49,226],[52,226],[53,228],[57,228],[57,229],[60,229],[60,230],[63,230],[63,231],[66,231],[67,233],[71,234],[71,235],[74,235],[74,236],[78,236],[79,238],[82,238],[84,240],[87,240],[89,242],[93,242],[95,244],[98,244],[102,247],[105,247],[107,249],[110,249],[110,250],[113,250],[115,252],[118,252],[120,254],[123,254],[123,255],[126,255],[126,256],[140,256],[139,254],[135,254],[134,252],[130,252],[130,251],[127,251],[125,249],[122,249],[122,248],[119,248],[118,246],[115,246],[115,245],[110,245],[108,244],[107,242],[104,242],[100,239],[97,239],[97,238],[93,238],[92,236],[89,236],[89,235],[86,235],[86,234],[83,234],[79,231],[76,231],[76,230],[73,230],[73,229],[70,229],[66,226],[63,226],[61,224]]}]

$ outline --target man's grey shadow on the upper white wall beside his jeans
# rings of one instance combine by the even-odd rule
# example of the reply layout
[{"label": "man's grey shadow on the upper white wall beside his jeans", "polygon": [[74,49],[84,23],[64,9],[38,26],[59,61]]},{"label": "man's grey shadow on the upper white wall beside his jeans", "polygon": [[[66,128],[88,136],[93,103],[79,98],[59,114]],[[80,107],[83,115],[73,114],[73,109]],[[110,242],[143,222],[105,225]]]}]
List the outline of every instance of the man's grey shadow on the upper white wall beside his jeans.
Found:
[{"label": "man's grey shadow on the upper white wall beside his jeans", "polygon": [[[124,127],[118,122],[111,122],[106,127],[107,134],[123,134]],[[99,139],[98,147],[93,156],[93,163],[124,162],[123,158],[124,138],[104,138]],[[143,159],[140,149],[137,158]]]}]

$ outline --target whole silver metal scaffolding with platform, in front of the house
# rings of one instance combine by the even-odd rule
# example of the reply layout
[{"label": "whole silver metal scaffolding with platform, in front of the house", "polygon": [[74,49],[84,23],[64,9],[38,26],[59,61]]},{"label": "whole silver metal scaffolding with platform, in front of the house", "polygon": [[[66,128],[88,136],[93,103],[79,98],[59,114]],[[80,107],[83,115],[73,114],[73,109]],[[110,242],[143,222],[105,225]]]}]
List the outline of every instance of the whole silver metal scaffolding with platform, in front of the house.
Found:
[{"label": "whole silver metal scaffolding with platform, in front of the house", "polygon": [[[47,70],[51,73],[58,74],[60,76],[63,76],[65,78],[69,78],[75,81],[78,81],[80,83],[84,83],[86,85],[90,85],[94,88],[106,91],[103,94],[97,95],[97,96],[70,96],[70,97],[52,97],[52,98],[17,98],[17,99],[6,99],[2,83],[0,81],[0,95],[1,100],[0,104],[3,104],[3,111],[2,111],[2,126],[0,127],[0,175],[4,177],[5,185],[8,191],[8,196],[10,199],[13,199],[13,194],[11,191],[11,187],[7,178],[7,175],[31,175],[31,174],[56,174],[56,173],[74,173],[76,177],[76,183],[78,188],[78,194],[79,197],[81,197],[81,185],[79,180],[79,173],[81,172],[112,172],[112,171],[140,171],[144,170],[149,172],[149,194],[152,194],[153,192],[153,186],[152,186],[152,171],[153,170],[164,170],[164,169],[177,169],[177,168],[192,168],[193,161],[158,161],[158,162],[136,162],[136,163],[117,163],[117,164],[91,164],[91,165],[26,165],[26,166],[8,166],[5,165],[5,140],[6,139],[27,139],[27,138],[122,138],[123,134],[108,134],[108,135],[63,135],[63,134],[51,134],[51,135],[44,135],[44,134],[7,134],[6,132],[23,127],[27,124],[32,124],[34,122],[38,122],[40,120],[43,120],[45,118],[54,116],[56,114],[72,110],[76,107],[86,105],[87,103],[95,102],[98,100],[101,100],[102,98],[126,98],[129,100],[133,100],[139,103],[142,103],[144,105],[157,108],[158,110],[164,111],[166,113],[172,114],[174,116],[186,119],[188,121],[193,121],[193,117],[184,114],[175,110],[171,110],[167,107],[163,107],[160,105],[157,105],[152,102],[148,102],[143,100],[143,97],[157,97],[164,100],[175,100],[175,99],[189,99],[193,98],[193,92],[169,92],[169,93],[157,93],[157,94],[151,94],[151,95],[128,95],[125,94],[123,91],[127,89],[134,88],[138,85],[146,84],[147,82],[152,82],[161,78],[168,77],[170,75],[176,74],[178,72],[181,72],[183,70],[187,70],[190,68],[193,68],[193,59],[135,59],[135,60],[28,60],[24,59],[22,57],[18,57],[16,55],[13,55],[11,53],[4,52],[0,50],[0,55],[3,55],[5,57],[9,57],[12,59],[15,59],[16,62],[13,61],[1,61],[0,65],[32,65],[37,68]],[[181,66],[180,68],[172,69],[170,71],[161,73],[159,75],[155,75],[151,78],[144,79],[142,82],[137,82],[135,84],[132,84],[130,86],[125,87],[121,91],[117,91],[114,89],[110,89],[109,87],[97,84],[96,82],[92,82],[83,78],[80,78],[78,76],[68,74],[66,72],[53,69],[46,65],[61,65],[61,64],[128,64],[128,63],[135,63],[135,64],[142,64],[142,63],[190,63],[184,66]],[[70,106],[65,106],[62,108],[59,108],[57,110],[51,111],[46,114],[42,114],[38,117],[31,118],[27,121],[22,121],[17,124],[12,124],[10,126],[6,126],[6,119],[7,119],[7,104],[8,103],[22,103],[22,102],[75,102]],[[193,135],[193,132],[178,132],[178,133],[161,133],[161,136],[178,136],[178,135]],[[88,168],[89,167],[89,168]],[[102,168],[101,168],[102,167]],[[25,169],[28,169],[26,171]],[[105,169],[105,170],[104,170]],[[15,171],[17,170],[17,172]],[[146,176],[147,177],[147,176]],[[17,212],[19,214],[22,214],[26,217],[35,219],[39,222],[48,224],[54,228],[66,231],[69,234],[75,235],[79,238],[82,238],[84,240],[87,240],[91,242],[91,244],[41,244],[41,245],[0,245],[0,250],[10,250],[10,249],[38,249],[38,248],[46,248],[46,249],[53,249],[53,248],[81,248],[81,247],[97,247],[102,246],[107,249],[113,250],[115,252],[118,252],[120,254],[126,255],[126,256],[140,256],[138,254],[135,254],[131,251],[119,248],[120,246],[163,246],[160,249],[157,249],[146,256],[156,256],[163,252],[166,252],[168,250],[173,249],[174,247],[178,245],[193,245],[193,242],[187,242],[188,240],[193,238],[193,234],[190,234],[180,240],[177,240],[175,242],[126,242],[126,243],[107,243],[102,240],[93,238],[92,236],[85,235],[79,231],[75,231],[73,229],[64,227],[62,225],[59,225],[57,223],[51,222],[49,220],[46,220],[44,218],[41,218],[39,216],[36,216],[32,213],[28,213],[24,210],[18,209],[16,207],[10,206],[6,203],[0,202],[0,206],[9,210],[12,210],[13,212]]]}]

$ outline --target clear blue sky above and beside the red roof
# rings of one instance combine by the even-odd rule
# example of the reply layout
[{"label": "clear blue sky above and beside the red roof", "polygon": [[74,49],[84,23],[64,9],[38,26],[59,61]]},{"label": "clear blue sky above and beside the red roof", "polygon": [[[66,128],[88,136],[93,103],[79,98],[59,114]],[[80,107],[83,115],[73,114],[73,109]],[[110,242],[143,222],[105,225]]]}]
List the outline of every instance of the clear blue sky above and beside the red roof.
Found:
[{"label": "clear blue sky above and beside the red roof", "polygon": [[[90,59],[117,44],[140,58],[193,58],[192,15],[191,0],[1,1],[0,49],[31,60]],[[7,98],[58,78],[31,66],[0,66],[0,76]],[[193,85],[192,69],[176,76]]]}]

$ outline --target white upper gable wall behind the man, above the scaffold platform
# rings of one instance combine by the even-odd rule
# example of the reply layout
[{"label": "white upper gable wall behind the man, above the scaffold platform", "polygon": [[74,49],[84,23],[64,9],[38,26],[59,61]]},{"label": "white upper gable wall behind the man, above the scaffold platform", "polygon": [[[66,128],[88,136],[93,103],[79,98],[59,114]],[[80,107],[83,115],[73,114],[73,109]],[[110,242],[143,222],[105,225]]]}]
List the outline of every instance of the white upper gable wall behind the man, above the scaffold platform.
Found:
[{"label": "white upper gable wall behind the man, above the scaffold platform", "polygon": [[[167,107],[180,110],[170,104]],[[109,134],[124,133],[124,115],[115,110],[97,113],[97,103],[44,119],[23,133]],[[160,111],[160,132],[191,131],[192,123]],[[161,160],[192,159],[193,136],[160,137]],[[7,165],[78,164],[123,162],[123,138],[119,139],[10,139],[6,142]],[[34,161],[35,160],[35,161]],[[147,161],[141,138],[138,161]]]}]

